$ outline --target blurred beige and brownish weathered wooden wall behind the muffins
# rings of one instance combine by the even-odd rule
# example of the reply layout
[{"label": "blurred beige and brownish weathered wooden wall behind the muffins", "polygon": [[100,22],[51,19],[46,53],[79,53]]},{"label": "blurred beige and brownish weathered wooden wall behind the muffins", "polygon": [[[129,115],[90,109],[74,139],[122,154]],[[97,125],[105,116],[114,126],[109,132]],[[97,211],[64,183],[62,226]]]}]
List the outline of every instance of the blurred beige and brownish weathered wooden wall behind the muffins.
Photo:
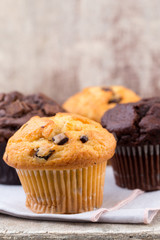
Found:
[{"label": "blurred beige and brownish weathered wooden wall behind the muffins", "polygon": [[160,0],[1,0],[0,90],[160,93]]}]

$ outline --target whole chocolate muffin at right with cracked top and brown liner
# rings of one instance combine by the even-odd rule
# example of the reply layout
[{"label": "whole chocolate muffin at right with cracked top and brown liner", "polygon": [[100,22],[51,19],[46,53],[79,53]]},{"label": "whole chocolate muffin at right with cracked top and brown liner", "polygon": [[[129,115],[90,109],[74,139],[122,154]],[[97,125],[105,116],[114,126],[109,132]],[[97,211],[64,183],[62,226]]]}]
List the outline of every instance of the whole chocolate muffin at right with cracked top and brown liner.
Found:
[{"label": "whole chocolate muffin at right with cracked top and brown liner", "polygon": [[117,185],[160,189],[160,98],[119,104],[104,114],[102,126],[116,134],[112,165]]}]

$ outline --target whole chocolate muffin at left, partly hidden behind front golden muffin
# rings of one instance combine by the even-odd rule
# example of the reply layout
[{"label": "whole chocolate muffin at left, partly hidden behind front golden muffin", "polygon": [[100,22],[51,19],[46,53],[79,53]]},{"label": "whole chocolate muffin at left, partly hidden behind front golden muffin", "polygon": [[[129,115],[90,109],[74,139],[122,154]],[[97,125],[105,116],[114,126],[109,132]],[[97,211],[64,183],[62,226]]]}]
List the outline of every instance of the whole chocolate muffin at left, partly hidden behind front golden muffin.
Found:
[{"label": "whole chocolate muffin at left, partly hidden behind front golden muffin", "polygon": [[54,116],[57,112],[64,110],[43,94],[0,94],[0,184],[20,184],[16,171],[3,161],[8,139],[31,117]]}]

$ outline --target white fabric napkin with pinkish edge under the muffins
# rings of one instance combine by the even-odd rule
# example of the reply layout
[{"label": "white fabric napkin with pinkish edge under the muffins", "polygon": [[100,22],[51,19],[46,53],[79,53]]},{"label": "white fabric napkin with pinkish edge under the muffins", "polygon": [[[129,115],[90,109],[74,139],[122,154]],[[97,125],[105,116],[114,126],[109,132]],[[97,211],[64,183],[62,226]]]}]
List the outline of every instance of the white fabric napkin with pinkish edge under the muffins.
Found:
[{"label": "white fabric napkin with pinkish edge under the muffins", "polygon": [[0,212],[16,217],[51,221],[144,223],[160,210],[160,191],[145,193],[116,186],[112,167],[107,167],[102,208],[79,214],[35,214],[25,207],[21,186],[0,185]]}]

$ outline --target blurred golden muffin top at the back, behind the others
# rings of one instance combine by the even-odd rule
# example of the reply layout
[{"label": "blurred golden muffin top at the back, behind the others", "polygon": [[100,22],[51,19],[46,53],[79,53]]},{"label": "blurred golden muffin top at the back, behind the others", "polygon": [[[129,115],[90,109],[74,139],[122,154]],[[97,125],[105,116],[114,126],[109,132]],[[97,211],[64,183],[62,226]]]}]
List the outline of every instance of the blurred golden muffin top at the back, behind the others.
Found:
[{"label": "blurred golden muffin top at the back, behind the others", "polygon": [[105,111],[113,108],[117,103],[139,100],[140,98],[133,91],[125,87],[89,87],[70,97],[63,107],[68,112],[100,122]]}]

